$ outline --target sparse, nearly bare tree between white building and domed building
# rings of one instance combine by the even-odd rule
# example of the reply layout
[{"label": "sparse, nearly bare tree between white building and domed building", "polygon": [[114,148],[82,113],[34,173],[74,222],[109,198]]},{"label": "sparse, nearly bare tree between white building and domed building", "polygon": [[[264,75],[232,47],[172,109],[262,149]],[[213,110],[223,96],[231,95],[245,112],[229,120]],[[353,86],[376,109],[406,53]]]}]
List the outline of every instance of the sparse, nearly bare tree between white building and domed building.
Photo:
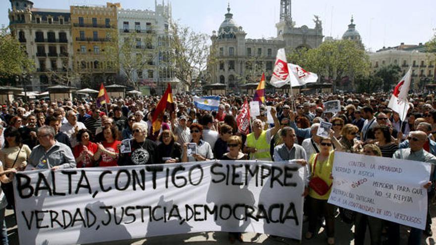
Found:
[{"label": "sparse, nearly bare tree between white building and domed building", "polygon": [[195,88],[207,73],[206,68],[215,61],[210,54],[209,37],[197,33],[177,22],[171,23],[170,62],[175,68],[175,77],[188,88]]}]

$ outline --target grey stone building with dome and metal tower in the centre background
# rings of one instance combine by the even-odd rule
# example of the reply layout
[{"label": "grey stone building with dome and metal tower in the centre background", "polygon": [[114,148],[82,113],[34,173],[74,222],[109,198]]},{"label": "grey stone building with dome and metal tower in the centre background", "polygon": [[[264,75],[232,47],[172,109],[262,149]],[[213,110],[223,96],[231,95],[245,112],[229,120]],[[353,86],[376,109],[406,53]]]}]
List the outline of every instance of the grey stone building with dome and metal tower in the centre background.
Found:
[{"label": "grey stone building with dome and metal tower in the centre background", "polygon": [[258,82],[262,72],[270,79],[277,49],[317,48],[323,42],[323,28],[315,16],[315,28],[296,27],[291,17],[291,0],[280,1],[280,21],[275,25],[277,37],[272,39],[246,39],[247,33],[238,26],[230,13],[212,32],[211,57],[208,70],[210,84],[225,84],[228,91],[241,91],[244,84]]}]

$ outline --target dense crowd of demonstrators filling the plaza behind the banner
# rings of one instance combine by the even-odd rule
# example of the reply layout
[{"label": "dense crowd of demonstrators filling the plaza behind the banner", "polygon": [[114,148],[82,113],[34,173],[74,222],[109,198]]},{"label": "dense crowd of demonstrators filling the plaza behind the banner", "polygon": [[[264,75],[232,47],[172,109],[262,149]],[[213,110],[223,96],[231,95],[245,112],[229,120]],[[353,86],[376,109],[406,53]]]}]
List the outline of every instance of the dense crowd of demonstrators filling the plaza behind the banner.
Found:
[{"label": "dense crowd of demonstrators filling the plaza behind the banner", "polygon": [[[12,176],[29,169],[63,169],[160,164],[209,159],[268,161],[293,160],[307,166],[305,210],[309,228],[306,239],[323,224],[327,244],[337,236],[337,217],[354,223],[354,244],[363,245],[369,226],[372,245],[399,244],[400,226],[327,203],[335,151],[409,159],[436,164],[436,98],[414,94],[407,118],[387,107],[390,94],[311,94],[266,96],[260,115],[251,121],[250,133],[238,130],[236,116],[251,97],[220,98],[218,111],[195,107],[192,96],[174,96],[175,110],[163,115],[161,128],[153,130],[152,118],[160,97],[112,98],[97,107],[95,98],[62,101],[16,100],[1,106],[0,113],[0,227],[7,244],[4,210],[14,207]],[[325,112],[323,103],[340,101],[340,111]],[[273,123],[268,123],[267,106]],[[330,122],[328,137],[317,136],[320,123]],[[192,152],[191,145],[195,145]],[[433,165],[434,166],[434,165]],[[411,228],[409,245],[432,236],[430,206],[435,196],[435,174],[424,186],[429,211],[424,231]],[[319,190],[311,181],[330,186]],[[324,223],[323,223],[324,220]],[[230,233],[231,242],[242,234]]]}]

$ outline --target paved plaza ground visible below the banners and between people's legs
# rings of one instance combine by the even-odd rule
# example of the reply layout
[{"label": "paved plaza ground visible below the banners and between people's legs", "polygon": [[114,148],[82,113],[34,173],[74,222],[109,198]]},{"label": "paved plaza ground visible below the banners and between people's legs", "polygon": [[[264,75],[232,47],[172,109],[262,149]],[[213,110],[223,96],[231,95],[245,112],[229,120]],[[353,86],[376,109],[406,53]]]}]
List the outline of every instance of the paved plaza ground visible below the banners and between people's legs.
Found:
[{"label": "paved plaza ground visible below the banners and between people's legs", "polygon": [[[433,206],[433,224],[432,230],[436,234],[436,206]],[[10,210],[6,211],[6,225],[8,227],[8,237],[9,245],[18,245],[18,234],[17,226],[13,218],[13,212]],[[307,231],[308,223],[305,222],[303,226],[303,234]],[[353,226],[347,225],[340,221],[339,218],[336,219],[335,223],[335,235],[336,235],[336,245],[354,245],[353,240]],[[401,231],[401,245],[407,244],[407,229],[402,227]],[[174,236],[163,236],[163,237],[153,237],[148,239],[133,239],[133,240],[123,240],[116,242],[106,242],[98,243],[94,245],[227,245],[230,244],[227,239],[227,233],[223,232],[203,232],[203,233],[193,233],[193,234],[183,234]],[[243,235],[244,243],[252,244],[262,244],[262,245],[325,245],[327,244],[326,235],[324,229],[321,228],[319,234],[312,238],[311,240],[303,239],[303,241],[296,241],[291,239],[282,238],[272,238],[265,234],[254,234],[245,233]],[[234,244],[241,244],[235,242]],[[436,235],[433,237],[423,236],[421,245],[435,245]],[[370,245],[369,232],[367,231],[367,239],[365,245]]]}]

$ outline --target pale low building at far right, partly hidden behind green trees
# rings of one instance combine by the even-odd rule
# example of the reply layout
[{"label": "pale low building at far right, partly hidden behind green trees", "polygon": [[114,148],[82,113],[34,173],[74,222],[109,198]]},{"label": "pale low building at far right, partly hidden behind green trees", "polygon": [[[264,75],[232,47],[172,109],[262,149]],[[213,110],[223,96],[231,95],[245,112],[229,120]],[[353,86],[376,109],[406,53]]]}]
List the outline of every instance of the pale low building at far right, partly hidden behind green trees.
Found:
[{"label": "pale low building at far right, partly hidden behind green trees", "polygon": [[425,52],[425,46],[405,45],[401,43],[396,47],[388,47],[369,53],[371,72],[376,73],[383,66],[398,65],[401,75],[404,76],[412,67],[412,88],[424,89],[426,84],[434,82],[435,77],[435,53]]}]

